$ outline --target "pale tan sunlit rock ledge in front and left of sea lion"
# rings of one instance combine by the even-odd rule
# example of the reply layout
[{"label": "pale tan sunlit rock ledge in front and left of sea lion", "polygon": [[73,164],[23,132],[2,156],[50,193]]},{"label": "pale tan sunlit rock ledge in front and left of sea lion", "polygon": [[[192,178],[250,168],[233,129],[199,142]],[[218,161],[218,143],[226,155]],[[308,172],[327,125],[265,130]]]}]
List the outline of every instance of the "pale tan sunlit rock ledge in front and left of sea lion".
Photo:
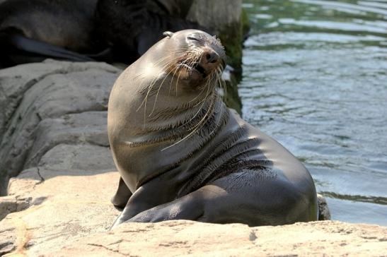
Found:
[{"label": "pale tan sunlit rock ledge in front and left of sea lion", "polygon": [[[110,204],[118,174],[80,171],[80,160],[101,165],[108,152],[59,145],[65,166],[42,165],[11,180],[0,198],[0,256],[385,256],[387,228],[320,221],[277,227],[192,221],[126,223]],[[86,153],[88,153],[86,156]],[[93,156],[94,153],[96,156]],[[56,159],[56,158],[55,158]],[[46,160],[46,159],[45,159]],[[97,165],[96,165],[97,166]],[[96,167],[93,166],[93,167]],[[83,167],[84,168],[84,167]],[[65,170],[68,169],[68,170]],[[74,170],[78,172],[74,172]]]}]

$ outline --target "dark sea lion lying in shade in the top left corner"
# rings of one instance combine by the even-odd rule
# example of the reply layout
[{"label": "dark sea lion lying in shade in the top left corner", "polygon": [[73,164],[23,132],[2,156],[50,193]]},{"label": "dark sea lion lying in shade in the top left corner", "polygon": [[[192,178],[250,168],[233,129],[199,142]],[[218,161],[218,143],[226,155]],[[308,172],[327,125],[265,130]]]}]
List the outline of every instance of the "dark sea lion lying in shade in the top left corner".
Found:
[{"label": "dark sea lion lying in shade in the top left corner", "polygon": [[47,58],[108,60],[95,28],[97,0],[0,2],[0,67]]}]

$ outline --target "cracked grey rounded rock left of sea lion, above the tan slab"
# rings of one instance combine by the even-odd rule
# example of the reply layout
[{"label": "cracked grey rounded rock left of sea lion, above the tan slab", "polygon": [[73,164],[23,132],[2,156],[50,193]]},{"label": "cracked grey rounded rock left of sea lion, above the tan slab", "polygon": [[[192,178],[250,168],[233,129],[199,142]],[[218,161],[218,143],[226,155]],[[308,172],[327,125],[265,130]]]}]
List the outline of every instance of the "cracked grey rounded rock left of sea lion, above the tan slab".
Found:
[{"label": "cracked grey rounded rock left of sea lion, above the tan slab", "polygon": [[106,110],[119,73],[102,63],[50,60],[0,70],[0,195],[9,177],[55,145],[108,146]]}]

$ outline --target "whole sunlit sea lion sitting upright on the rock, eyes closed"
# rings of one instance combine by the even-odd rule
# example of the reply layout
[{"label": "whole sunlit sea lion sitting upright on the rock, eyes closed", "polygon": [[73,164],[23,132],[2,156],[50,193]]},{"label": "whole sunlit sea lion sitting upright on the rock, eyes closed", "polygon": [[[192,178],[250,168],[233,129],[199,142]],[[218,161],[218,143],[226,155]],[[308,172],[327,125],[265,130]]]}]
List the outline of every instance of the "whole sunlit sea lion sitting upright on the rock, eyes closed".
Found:
[{"label": "whole sunlit sea lion sitting upright on the rock, eyes closed", "polygon": [[166,32],[115,82],[108,136],[122,222],[250,226],[317,220],[313,179],[274,139],[229,109],[224,49],[200,30]]}]

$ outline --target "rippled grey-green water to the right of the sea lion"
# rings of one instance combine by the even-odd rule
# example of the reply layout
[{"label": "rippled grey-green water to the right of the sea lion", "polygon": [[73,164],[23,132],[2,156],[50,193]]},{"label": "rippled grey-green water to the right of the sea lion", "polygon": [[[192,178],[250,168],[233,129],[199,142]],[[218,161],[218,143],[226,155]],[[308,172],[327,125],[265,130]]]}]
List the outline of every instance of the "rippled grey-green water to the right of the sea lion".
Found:
[{"label": "rippled grey-green water to the right of the sea lion", "polygon": [[243,3],[244,118],[304,162],[333,220],[387,225],[387,0]]}]

